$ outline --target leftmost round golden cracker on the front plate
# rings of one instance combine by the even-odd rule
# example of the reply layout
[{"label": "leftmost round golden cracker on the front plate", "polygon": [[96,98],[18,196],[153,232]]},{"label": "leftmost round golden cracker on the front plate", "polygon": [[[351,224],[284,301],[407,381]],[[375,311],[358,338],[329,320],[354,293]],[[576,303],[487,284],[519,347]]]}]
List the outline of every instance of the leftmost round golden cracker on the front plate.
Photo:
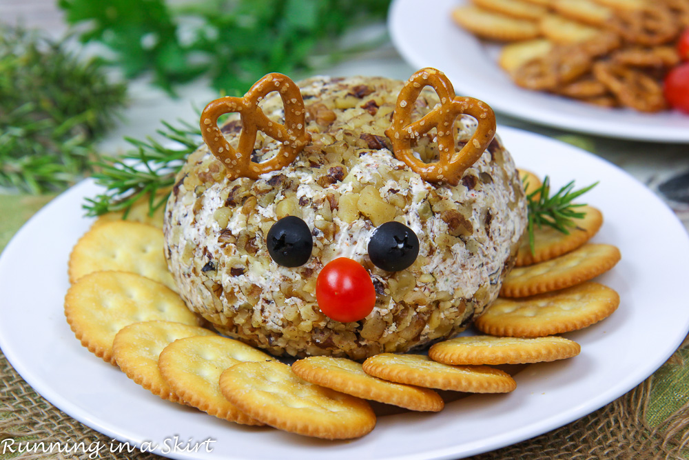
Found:
[{"label": "leftmost round golden cracker on the front plate", "polygon": [[176,292],[127,272],[94,272],[79,278],[65,296],[65,317],[81,344],[112,364],[112,341],[125,326],[154,319],[200,324]]}]

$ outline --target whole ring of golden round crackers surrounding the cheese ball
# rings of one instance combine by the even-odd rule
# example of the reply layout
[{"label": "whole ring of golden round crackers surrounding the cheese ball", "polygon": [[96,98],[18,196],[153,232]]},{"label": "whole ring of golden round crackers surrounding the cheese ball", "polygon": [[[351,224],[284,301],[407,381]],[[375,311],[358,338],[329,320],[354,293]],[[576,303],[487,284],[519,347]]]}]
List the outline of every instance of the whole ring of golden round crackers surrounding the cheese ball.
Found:
[{"label": "whole ring of golden round crackers surrounding the cheese ball", "polygon": [[[528,183],[537,188],[537,177]],[[376,426],[369,401],[438,412],[445,403],[436,390],[515,390],[510,374],[490,366],[579,354],[577,343],[553,334],[586,327],[619,304],[613,290],[588,281],[612,268],[619,251],[587,243],[602,216],[585,210],[569,235],[538,229],[535,251],[528,243],[520,248],[503,297],[477,321],[490,335],[436,343],[428,356],[383,353],[364,363],[309,357],[289,366],[204,328],[167,272],[161,213],[94,223],[72,250],[65,316],[83,346],[167,401],[243,425],[361,437]]]}]

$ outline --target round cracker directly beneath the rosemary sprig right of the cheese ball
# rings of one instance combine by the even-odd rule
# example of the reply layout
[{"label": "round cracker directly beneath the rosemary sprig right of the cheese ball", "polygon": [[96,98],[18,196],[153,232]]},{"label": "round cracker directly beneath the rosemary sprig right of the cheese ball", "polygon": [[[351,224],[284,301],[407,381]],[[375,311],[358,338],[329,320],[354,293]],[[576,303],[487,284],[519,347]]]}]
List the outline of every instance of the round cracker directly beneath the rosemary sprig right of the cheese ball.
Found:
[{"label": "round cracker directly beneath the rosemary sprig right of the cheese ball", "polygon": [[568,234],[551,226],[534,226],[533,253],[528,243],[528,234],[524,234],[515,266],[528,266],[555,259],[581,247],[591,239],[603,225],[603,214],[593,206],[582,206],[577,208],[577,212],[584,212],[585,215],[582,219],[573,219],[576,227],[570,228]]}]

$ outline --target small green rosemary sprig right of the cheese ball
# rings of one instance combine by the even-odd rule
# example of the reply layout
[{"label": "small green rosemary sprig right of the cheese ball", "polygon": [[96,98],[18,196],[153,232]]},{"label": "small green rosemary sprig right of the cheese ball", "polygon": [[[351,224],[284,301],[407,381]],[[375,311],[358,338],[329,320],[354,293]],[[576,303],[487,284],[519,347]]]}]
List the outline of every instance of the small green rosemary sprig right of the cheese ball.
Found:
[{"label": "small green rosemary sprig right of the cheese ball", "polygon": [[598,182],[595,182],[588,187],[573,191],[574,181],[570,181],[551,196],[551,179],[548,176],[544,177],[542,186],[526,197],[528,246],[532,254],[534,252],[534,226],[538,228],[550,226],[564,234],[569,234],[570,229],[577,228],[574,219],[582,219],[586,215],[584,212],[577,212],[577,208],[586,206],[586,203],[572,201],[597,185]]}]

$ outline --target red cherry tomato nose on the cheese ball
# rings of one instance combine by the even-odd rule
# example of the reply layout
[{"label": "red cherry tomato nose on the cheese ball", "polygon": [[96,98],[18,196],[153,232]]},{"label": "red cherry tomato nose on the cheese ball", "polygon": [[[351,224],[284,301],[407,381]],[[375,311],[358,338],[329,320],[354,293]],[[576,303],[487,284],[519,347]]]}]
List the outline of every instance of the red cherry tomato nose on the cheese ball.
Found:
[{"label": "red cherry tomato nose on the cheese ball", "polygon": [[340,257],[327,263],[318,274],[316,301],[327,317],[350,323],[364,319],[373,310],[376,289],[360,263]]}]

